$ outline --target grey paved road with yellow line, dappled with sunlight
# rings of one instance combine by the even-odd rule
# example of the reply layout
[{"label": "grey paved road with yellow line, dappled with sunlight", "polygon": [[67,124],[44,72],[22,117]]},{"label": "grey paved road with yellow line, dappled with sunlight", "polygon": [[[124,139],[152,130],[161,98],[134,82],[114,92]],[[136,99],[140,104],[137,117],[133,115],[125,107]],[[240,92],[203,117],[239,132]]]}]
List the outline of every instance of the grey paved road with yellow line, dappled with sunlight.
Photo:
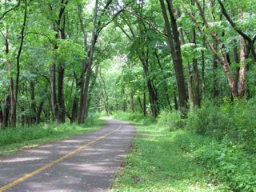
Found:
[{"label": "grey paved road with yellow line, dappled with sunlight", "polygon": [[109,120],[89,134],[1,158],[0,191],[109,191],[134,134],[134,126]]}]

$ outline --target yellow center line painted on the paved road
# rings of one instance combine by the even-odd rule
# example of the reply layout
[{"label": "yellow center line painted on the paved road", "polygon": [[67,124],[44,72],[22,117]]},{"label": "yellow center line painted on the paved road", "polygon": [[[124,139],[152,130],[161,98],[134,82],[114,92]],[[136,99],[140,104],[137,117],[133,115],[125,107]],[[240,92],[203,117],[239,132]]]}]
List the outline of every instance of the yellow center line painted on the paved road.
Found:
[{"label": "yellow center line painted on the paved road", "polygon": [[22,176],[21,178],[16,179],[14,182],[10,182],[10,183],[7,184],[6,186],[2,186],[2,187],[0,188],[0,192],[3,192],[3,191],[5,191],[5,190],[8,190],[8,189],[10,189],[10,188],[13,187],[13,186],[18,185],[18,183],[20,183],[20,182],[24,182],[26,179],[33,177],[35,174],[39,174],[40,172],[42,172],[42,170],[46,170],[46,169],[49,168],[50,166],[53,166],[54,164],[56,164],[56,163],[58,163],[58,162],[61,162],[61,161],[62,161],[63,159],[65,159],[65,158],[70,158],[72,155],[78,153],[78,152],[81,151],[81,150],[86,149],[87,146],[90,146],[90,145],[93,144],[94,142],[98,142],[99,140],[102,140],[103,138],[106,138],[106,137],[109,136],[110,134],[114,134],[115,132],[117,132],[118,130],[120,130],[121,127],[122,127],[122,126],[119,126],[118,129],[113,130],[113,131],[111,131],[111,132],[108,133],[108,134],[104,134],[104,135],[102,135],[101,137],[96,138],[96,139],[94,139],[93,141],[86,143],[86,145],[84,145],[84,146],[79,146],[76,150],[70,151],[68,154],[63,155],[61,158],[56,158],[54,161],[47,163],[45,166],[41,166],[41,167],[38,168],[37,170],[34,170],[34,171],[32,171],[31,173],[25,174],[25,175]]}]

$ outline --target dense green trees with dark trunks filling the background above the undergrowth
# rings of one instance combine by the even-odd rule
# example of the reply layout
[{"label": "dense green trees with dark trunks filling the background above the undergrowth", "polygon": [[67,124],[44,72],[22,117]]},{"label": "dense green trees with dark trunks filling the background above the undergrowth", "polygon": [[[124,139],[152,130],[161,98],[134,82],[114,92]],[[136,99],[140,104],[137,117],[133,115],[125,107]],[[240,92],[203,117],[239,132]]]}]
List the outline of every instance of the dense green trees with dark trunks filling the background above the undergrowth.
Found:
[{"label": "dense green trees with dark trunks filling the background above the undergrowth", "polygon": [[1,126],[254,98],[254,12],[253,0],[2,0]]}]

